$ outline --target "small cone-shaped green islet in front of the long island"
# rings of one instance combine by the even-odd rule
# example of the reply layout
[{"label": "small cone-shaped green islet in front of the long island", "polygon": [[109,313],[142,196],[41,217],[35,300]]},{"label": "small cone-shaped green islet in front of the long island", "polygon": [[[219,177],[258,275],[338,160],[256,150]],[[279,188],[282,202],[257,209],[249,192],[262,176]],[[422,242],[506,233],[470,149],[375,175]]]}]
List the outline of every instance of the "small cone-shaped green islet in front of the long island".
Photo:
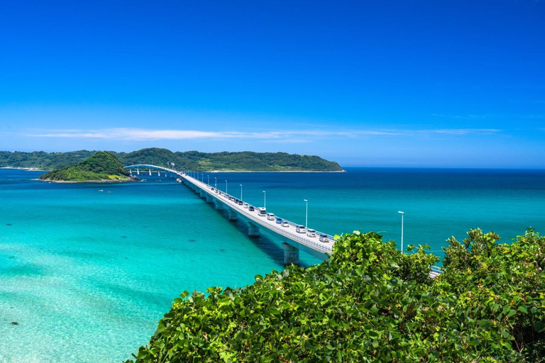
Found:
[{"label": "small cone-shaped green islet in front of the long island", "polygon": [[106,151],[96,152],[82,162],[42,174],[39,179],[65,183],[107,183],[138,180],[131,176],[131,173],[123,167],[117,157]]}]

